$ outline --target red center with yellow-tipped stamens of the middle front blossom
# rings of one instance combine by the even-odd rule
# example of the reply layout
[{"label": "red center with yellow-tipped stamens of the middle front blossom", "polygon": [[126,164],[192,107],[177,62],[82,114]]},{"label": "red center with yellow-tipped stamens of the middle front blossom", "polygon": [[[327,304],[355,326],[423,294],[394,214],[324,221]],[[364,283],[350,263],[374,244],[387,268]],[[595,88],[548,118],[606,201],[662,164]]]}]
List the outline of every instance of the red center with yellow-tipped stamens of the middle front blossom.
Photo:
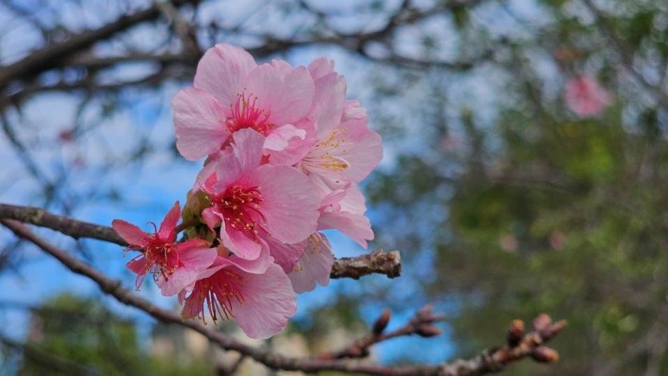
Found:
[{"label": "red center with yellow-tipped stamens of the middle front blossom", "polygon": [[213,199],[214,205],[225,218],[225,226],[251,237],[256,237],[258,228],[265,226],[265,217],[260,212],[260,203],[263,201],[260,187],[242,188],[238,185],[233,185]]}]

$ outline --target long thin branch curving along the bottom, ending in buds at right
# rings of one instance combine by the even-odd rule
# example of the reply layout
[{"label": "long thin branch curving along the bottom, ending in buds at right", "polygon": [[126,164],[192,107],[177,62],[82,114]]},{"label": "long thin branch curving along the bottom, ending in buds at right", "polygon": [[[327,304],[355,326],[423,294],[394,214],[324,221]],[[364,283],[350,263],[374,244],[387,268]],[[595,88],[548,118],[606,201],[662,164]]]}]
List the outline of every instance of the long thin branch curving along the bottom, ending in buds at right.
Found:
[{"label": "long thin branch curving along the bottom, ending in buds at right", "polygon": [[495,372],[502,369],[508,363],[527,356],[531,356],[537,361],[543,362],[555,361],[558,357],[554,350],[543,346],[543,344],[564,327],[564,322],[552,324],[547,315],[541,315],[536,319],[534,322],[534,329],[529,332],[529,334],[524,334],[523,327],[519,330],[513,330],[518,329],[516,322],[513,322],[513,327],[511,327],[511,331],[508,335],[508,345],[504,347],[497,348],[497,350],[488,350],[474,359],[458,359],[452,363],[444,363],[440,366],[376,366],[373,364],[351,363],[347,360],[319,358],[300,359],[286,357],[263,348],[252,347],[241,343],[235,338],[226,336],[219,331],[208,329],[202,324],[199,324],[199,322],[183,321],[177,313],[157,307],[150,303],[150,301],[134,295],[131,290],[121,286],[121,281],[110,279],[97,269],[77,260],[77,258],[70,256],[69,253],[62,249],[49,244],[35,235],[24,224],[9,219],[0,219],[0,224],[3,224],[12,230],[17,236],[33,242],[33,244],[36,244],[36,246],[40,247],[43,251],[59,260],[72,272],[81,274],[93,280],[98,284],[102,291],[113,296],[118,301],[121,301],[121,303],[139,308],[141,311],[148,313],[153,316],[153,318],[162,322],[180,325],[197,331],[224,350],[240,352],[272,369],[301,370],[304,373],[332,370],[345,373],[364,373],[368,375],[387,376],[469,376]]}]

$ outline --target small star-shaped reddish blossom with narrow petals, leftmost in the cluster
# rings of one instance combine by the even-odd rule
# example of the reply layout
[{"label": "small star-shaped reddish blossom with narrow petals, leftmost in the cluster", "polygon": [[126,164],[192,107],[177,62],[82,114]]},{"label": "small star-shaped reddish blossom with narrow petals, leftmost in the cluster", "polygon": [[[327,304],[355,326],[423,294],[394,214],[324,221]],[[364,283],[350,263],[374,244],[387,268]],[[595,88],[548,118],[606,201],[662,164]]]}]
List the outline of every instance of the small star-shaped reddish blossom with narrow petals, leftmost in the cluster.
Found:
[{"label": "small star-shaped reddish blossom with narrow petals, leftmost in the cluster", "polygon": [[180,217],[178,201],[165,215],[160,230],[153,235],[144,233],[137,226],[121,219],[114,219],[111,226],[122,237],[127,248],[142,251],[139,256],[127,263],[127,268],[137,273],[137,289],[153,273],[162,295],[176,295],[187,285],[193,283],[200,272],[215,260],[215,249],[201,239],[176,243],[176,223]]}]

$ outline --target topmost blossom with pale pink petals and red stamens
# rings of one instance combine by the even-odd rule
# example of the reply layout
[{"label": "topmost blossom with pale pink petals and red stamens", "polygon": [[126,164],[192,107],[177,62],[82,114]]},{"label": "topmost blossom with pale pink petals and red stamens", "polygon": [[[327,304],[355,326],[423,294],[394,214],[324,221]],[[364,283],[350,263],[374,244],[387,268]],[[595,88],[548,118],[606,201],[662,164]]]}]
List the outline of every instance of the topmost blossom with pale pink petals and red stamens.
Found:
[{"label": "topmost blossom with pale pink petals and red stamens", "polygon": [[304,67],[280,61],[257,65],[240,47],[216,45],[201,58],[194,87],[172,100],[176,147],[186,159],[199,159],[250,128],[266,137],[265,154],[280,159],[305,138],[314,91]]}]

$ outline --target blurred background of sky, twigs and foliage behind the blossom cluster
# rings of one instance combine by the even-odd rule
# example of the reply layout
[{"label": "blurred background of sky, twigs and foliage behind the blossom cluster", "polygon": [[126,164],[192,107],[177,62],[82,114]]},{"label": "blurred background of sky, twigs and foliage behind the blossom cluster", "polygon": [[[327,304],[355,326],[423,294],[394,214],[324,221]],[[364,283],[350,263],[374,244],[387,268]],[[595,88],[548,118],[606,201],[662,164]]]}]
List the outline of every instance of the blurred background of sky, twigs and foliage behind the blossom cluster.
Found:
[{"label": "blurred background of sky, twigs and foliage behind the blossom cluster", "polygon": [[[363,186],[370,249],[400,250],[403,275],[300,296],[268,345],[332,350],[382,308],[396,327],[431,303],[444,334],[382,343],[373,361],[469,357],[546,312],[569,322],[561,359],[507,374],[668,375],[665,0],[0,0],[0,201],[160,221],[201,166],[176,152],[169,101],[216,42],[334,59],[384,140]],[[120,246],[39,233],[132,287]],[[336,256],[367,252],[328,235]],[[151,283],[141,295],[176,309]],[[1,375],[225,375],[236,361],[5,228],[0,322]]]}]

